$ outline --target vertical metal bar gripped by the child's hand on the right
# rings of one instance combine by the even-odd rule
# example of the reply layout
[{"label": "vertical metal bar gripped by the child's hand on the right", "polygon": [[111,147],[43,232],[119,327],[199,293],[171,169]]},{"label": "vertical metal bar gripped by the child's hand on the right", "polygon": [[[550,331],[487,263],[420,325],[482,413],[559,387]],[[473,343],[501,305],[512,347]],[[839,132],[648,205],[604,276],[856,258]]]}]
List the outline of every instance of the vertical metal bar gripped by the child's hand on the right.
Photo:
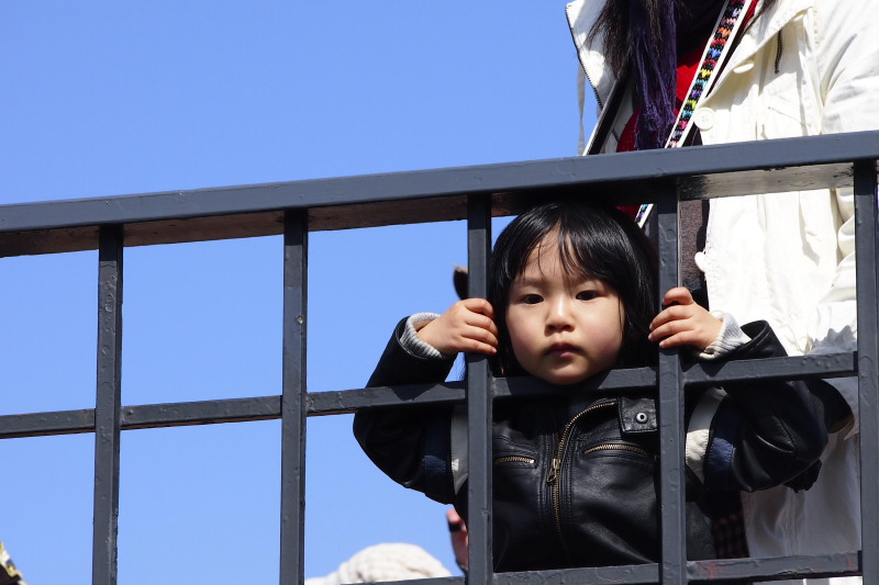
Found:
[{"label": "vertical metal bar gripped by the child's hand on the right", "polygon": [[[676,193],[674,194],[676,195]],[[659,304],[678,285],[678,200],[663,196],[656,204],[659,245]],[[659,307],[661,308],[661,306]],[[683,476],[683,376],[677,350],[659,350],[659,476],[665,585],[686,583],[687,525]]]}]

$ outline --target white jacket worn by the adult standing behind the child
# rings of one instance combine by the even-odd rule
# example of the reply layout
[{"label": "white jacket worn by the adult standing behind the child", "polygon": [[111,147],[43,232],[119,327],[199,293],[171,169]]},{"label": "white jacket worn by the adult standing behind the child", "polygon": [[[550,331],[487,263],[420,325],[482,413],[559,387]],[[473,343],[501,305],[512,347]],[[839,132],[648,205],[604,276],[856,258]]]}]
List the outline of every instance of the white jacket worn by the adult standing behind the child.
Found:
[{"label": "white jacket worn by the adult standing behind the child", "polygon": [[[567,10],[581,103],[591,85],[600,108],[615,81],[601,35],[590,36],[604,1],[576,0]],[[760,9],[693,114],[702,143],[879,128],[879,0],[776,0]],[[632,112],[624,100],[605,151],[616,150]],[[853,215],[850,189],[711,200],[696,258],[711,307],[768,320],[791,355],[855,349]],[[860,549],[857,384],[831,382],[855,418],[831,437],[811,490],[743,494],[752,556]]]}]

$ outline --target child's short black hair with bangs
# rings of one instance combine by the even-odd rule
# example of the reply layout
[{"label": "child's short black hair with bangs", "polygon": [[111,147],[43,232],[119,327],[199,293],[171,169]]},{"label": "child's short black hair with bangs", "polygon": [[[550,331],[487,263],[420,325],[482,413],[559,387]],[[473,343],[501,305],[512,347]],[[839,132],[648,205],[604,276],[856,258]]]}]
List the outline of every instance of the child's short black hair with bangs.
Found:
[{"label": "child's short black hair with bangs", "polygon": [[544,236],[556,230],[561,266],[571,275],[597,278],[611,284],[623,304],[623,345],[617,367],[655,361],[647,340],[657,308],[656,252],[641,228],[620,210],[582,199],[543,203],[513,220],[494,244],[489,277],[489,302],[500,333],[491,359],[497,375],[523,375],[513,356],[507,328],[510,288],[525,270],[528,257]]}]

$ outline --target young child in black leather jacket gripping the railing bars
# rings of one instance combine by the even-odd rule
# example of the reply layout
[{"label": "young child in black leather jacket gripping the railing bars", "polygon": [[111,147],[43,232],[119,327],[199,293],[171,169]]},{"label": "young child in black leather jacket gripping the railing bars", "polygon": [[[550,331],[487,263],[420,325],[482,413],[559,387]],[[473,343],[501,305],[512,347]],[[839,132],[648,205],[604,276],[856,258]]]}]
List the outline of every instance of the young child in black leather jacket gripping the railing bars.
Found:
[{"label": "young child in black leather jacket gripping the railing bars", "polygon": [[[489,299],[394,330],[369,386],[439,382],[459,351],[487,353],[496,375],[569,387],[563,397],[500,400],[493,418],[494,569],[528,571],[660,558],[656,392],[601,394],[580,383],[655,361],[660,347],[700,359],[783,356],[765,323],[738,327],[687,289],[656,315],[655,259],[637,226],[611,207],[558,201],[522,214],[494,247]],[[824,382],[761,381],[688,393],[690,559],[714,558],[712,493],[814,481],[827,432],[849,416]],[[405,487],[466,518],[463,407],[375,408],[354,432]],[[803,479],[805,477],[805,479]],[[720,497],[720,499],[723,499]]]}]

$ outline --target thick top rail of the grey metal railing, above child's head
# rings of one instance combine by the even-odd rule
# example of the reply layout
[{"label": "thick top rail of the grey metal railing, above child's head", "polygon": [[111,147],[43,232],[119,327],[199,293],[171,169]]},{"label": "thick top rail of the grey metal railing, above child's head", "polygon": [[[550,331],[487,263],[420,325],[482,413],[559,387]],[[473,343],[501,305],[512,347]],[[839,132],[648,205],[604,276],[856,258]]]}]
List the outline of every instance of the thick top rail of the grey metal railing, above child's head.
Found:
[{"label": "thick top rail of the grey metal railing, above child's head", "polygon": [[[0,205],[0,257],[98,249],[101,225],[124,225],[125,246],[279,235],[287,210],[309,229],[467,217],[467,196],[489,193],[509,215],[553,190],[620,203],[659,196],[731,196],[850,185],[852,161],[876,159],[879,132],[481,165],[335,179]],[[47,194],[51,196],[51,194]]]}]

